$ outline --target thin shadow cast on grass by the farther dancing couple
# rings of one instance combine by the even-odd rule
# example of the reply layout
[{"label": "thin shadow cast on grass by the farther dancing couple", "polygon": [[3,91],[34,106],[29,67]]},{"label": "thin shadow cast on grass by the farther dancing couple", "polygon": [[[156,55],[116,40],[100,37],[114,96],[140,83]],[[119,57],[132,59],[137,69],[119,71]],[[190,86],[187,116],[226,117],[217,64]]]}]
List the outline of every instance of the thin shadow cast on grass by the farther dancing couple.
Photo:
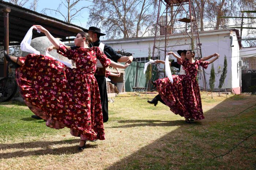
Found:
[{"label": "thin shadow cast on grass by the farther dancing couple", "polygon": [[[185,120],[118,120],[118,123],[128,123],[120,126],[112,126],[110,128],[130,128],[130,127],[141,127],[141,126],[183,126],[188,123]],[[131,124],[132,123],[132,124]],[[200,125],[201,122],[193,122],[194,125]]]}]

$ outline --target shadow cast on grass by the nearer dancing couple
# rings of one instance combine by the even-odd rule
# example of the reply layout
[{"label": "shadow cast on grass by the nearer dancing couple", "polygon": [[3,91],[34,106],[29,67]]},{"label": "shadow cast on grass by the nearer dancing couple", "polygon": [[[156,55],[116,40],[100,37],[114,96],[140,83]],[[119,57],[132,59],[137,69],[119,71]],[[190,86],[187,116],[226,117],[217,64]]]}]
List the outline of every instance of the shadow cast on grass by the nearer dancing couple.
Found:
[{"label": "shadow cast on grass by the nearer dancing couple", "polygon": [[[80,152],[78,151],[79,141],[80,139],[53,141],[53,142],[38,141],[38,142],[27,142],[27,143],[0,144],[0,150],[43,148],[43,149],[34,150],[34,151],[20,150],[20,151],[15,151],[11,153],[1,153],[0,159],[27,157],[27,156],[33,156],[33,155],[46,155],[46,154],[51,154],[51,155],[75,154]],[[74,144],[74,143],[76,143],[77,145],[51,149],[51,146],[54,146],[54,145]],[[97,145],[95,144],[93,145],[91,143],[89,144],[86,143],[86,148],[96,148],[96,147]]]}]

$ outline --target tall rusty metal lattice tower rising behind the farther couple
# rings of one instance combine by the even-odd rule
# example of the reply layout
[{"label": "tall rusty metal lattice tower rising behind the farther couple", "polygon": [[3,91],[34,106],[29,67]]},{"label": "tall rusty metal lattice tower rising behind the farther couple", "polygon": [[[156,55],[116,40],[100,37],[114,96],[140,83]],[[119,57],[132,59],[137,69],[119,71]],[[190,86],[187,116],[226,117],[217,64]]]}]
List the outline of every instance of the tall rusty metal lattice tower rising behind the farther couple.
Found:
[{"label": "tall rusty metal lattice tower rising behind the farther couple", "polygon": [[[194,0],[159,0],[158,4],[158,13],[157,13],[157,23],[155,25],[155,37],[154,37],[154,46],[153,46],[153,54],[152,58],[154,59],[156,49],[158,51],[163,51],[164,56],[166,56],[166,49],[168,47],[173,46],[167,46],[167,41],[169,39],[169,35],[173,34],[173,25],[171,25],[172,22],[184,22],[185,23],[185,33],[190,37],[191,39],[191,49],[195,51],[197,54],[197,59],[202,58],[202,50],[199,39],[199,30],[197,28],[197,22],[196,22],[196,13],[195,13],[195,7],[193,4]],[[162,6],[164,7],[164,10],[161,11]],[[183,13],[182,18],[176,18],[177,13]],[[190,32],[188,32],[190,31]],[[165,43],[163,46],[156,46],[157,43],[157,37],[158,33],[160,32],[160,36],[164,35]],[[175,46],[184,46],[188,44],[179,44]],[[203,88],[207,89],[206,84],[206,78],[205,78],[205,72],[204,68],[203,70],[199,70],[199,75],[203,78]]]}]

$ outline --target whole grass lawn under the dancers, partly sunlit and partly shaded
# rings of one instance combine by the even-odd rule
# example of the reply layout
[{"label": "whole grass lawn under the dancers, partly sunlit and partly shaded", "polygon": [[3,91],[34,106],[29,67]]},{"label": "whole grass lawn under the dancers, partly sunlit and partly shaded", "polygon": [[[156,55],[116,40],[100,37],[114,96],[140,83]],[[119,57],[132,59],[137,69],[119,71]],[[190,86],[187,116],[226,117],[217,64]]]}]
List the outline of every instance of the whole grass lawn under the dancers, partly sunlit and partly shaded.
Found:
[{"label": "whole grass lawn under the dancers, partly sunlit and partly shaded", "polygon": [[256,132],[256,96],[202,93],[205,119],[192,124],[162,103],[148,104],[154,96],[114,98],[106,140],[82,152],[69,129],[46,127],[22,103],[0,103],[0,169],[256,168],[256,134],[242,142]]}]

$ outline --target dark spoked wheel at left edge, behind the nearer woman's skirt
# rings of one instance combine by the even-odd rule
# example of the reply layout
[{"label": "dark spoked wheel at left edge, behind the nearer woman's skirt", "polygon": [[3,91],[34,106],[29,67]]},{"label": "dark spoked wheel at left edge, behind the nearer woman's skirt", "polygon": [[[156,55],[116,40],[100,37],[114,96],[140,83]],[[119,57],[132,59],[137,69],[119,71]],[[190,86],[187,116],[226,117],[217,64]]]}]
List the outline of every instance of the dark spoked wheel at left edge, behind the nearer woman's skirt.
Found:
[{"label": "dark spoked wheel at left edge, behind the nearer woman's skirt", "polygon": [[7,102],[16,93],[18,85],[14,79],[5,77],[0,80],[0,102]]}]

